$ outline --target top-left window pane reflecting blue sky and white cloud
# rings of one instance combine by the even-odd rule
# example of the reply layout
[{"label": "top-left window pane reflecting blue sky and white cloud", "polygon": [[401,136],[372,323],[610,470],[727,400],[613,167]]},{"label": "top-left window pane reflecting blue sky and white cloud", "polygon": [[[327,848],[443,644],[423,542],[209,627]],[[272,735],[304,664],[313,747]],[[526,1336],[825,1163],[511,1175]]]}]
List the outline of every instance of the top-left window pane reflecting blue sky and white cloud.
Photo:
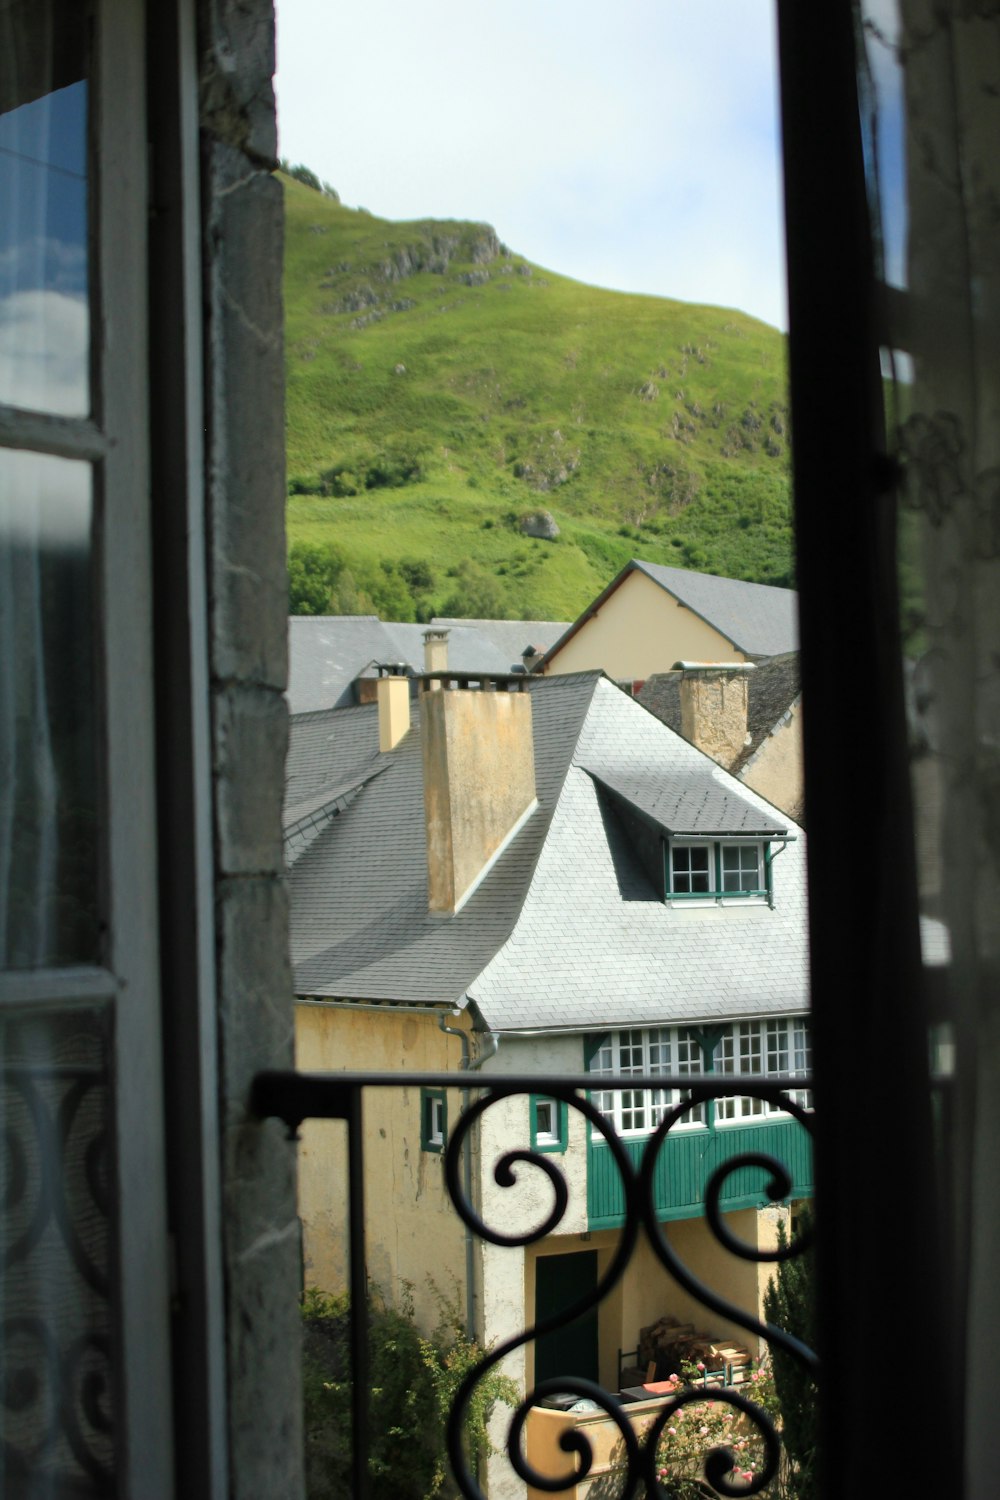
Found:
[{"label": "top-left window pane reflecting blue sky and white cloud", "polygon": [[85,6],[0,8],[0,402],[90,411]]}]

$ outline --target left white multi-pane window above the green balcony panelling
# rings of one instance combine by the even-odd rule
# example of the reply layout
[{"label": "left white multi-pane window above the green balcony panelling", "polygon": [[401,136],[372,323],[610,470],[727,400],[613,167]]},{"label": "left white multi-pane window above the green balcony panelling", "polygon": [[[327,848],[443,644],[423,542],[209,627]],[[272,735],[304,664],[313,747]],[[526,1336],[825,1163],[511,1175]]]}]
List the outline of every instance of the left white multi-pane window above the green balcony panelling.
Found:
[{"label": "left white multi-pane window above the green balcony panelling", "polygon": [[[655,1077],[703,1071],[702,1047],[687,1026],[609,1032],[591,1060],[591,1072],[618,1077]],[[669,1108],[681,1102],[679,1089],[600,1089],[591,1095],[619,1136],[648,1136]],[[681,1125],[703,1125],[705,1106],[696,1104]]]}]

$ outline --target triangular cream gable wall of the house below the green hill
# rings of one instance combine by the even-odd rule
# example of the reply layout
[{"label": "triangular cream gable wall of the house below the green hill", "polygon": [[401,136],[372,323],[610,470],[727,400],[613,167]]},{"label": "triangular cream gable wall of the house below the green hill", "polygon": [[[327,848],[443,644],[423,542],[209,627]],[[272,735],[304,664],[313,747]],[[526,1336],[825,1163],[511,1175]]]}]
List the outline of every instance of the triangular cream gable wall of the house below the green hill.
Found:
[{"label": "triangular cream gable wall of the house below the green hill", "polygon": [[645,573],[630,573],[546,670],[601,668],[616,681],[645,681],[675,662],[745,662],[745,656]]}]

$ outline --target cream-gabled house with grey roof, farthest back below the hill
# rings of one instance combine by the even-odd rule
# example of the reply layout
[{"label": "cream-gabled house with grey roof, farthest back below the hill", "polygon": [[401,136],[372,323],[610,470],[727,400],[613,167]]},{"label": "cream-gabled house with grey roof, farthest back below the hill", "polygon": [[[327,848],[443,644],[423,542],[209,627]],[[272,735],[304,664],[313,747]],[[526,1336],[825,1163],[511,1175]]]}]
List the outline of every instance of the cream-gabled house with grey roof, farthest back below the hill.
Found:
[{"label": "cream-gabled house with grey roof, farthest back below the hill", "polygon": [[615,681],[643,682],[676,662],[756,662],[798,644],[795,590],[633,558],[537,670],[601,668]]}]

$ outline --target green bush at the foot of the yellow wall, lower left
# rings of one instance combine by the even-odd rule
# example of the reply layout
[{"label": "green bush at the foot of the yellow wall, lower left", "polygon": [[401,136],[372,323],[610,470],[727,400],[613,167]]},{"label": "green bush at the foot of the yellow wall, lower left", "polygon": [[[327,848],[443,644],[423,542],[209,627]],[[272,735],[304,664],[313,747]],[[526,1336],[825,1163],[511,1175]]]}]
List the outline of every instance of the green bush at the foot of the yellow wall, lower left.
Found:
[{"label": "green bush at the foot of the yellow wall, lower left", "polygon": [[[439,1323],[427,1338],[417,1329],[409,1298],[390,1308],[369,1296],[369,1474],[373,1500],[439,1500],[447,1492],[445,1422],[451,1398],[483,1350],[462,1330],[442,1296]],[[351,1492],[349,1314],[345,1294],[309,1290],[303,1298],[303,1394],[306,1492],[309,1500],[342,1500]],[[472,1466],[492,1452],[487,1422],[498,1401],[516,1404],[517,1390],[490,1371],[477,1386],[466,1416]]]}]

